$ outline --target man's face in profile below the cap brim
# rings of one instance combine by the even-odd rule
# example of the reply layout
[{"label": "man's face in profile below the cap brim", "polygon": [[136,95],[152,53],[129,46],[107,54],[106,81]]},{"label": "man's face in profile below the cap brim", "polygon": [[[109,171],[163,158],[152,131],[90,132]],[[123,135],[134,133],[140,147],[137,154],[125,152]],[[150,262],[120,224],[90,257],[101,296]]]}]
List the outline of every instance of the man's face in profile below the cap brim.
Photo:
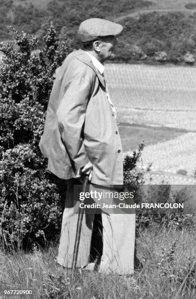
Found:
[{"label": "man's face in profile below the cap brim", "polygon": [[118,44],[118,39],[115,36],[108,36],[99,41],[99,58],[101,62],[106,59],[114,58],[115,46]]}]

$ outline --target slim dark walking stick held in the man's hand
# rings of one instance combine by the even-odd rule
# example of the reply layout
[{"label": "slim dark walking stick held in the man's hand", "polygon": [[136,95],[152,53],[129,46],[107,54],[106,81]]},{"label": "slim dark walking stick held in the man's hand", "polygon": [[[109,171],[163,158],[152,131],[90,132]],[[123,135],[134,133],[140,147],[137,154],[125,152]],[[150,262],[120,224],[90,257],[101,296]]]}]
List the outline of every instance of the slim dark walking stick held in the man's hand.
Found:
[{"label": "slim dark walking stick held in the man's hand", "polygon": [[[82,186],[82,192],[87,192],[87,185],[88,185],[88,175],[85,175],[84,181],[83,181],[83,186]],[[74,244],[74,255],[73,255],[73,260],[72,260],[73,271],[76,270],[76,265],[77,265],[78,249],[79,249],[79,241],[80,241],[80,235],[81,235],[83,215],[84,215],[84,208],[79,208],[78,222],[77,222],[77,229],[76,229],[76,240],[75,240],[75,244]]]}]

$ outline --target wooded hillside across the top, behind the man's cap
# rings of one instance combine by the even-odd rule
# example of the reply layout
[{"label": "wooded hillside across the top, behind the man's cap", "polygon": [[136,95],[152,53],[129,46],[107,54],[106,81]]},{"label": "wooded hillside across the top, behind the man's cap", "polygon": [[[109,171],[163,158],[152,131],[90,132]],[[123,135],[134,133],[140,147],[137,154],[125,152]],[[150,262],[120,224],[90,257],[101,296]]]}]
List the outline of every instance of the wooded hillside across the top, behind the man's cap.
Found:
[{"label": "wooded hillside across the top, behind the man's cap", "polygon": [[93,17],[123,25],[116,62],[195,62],[196,0],[0,0],[0,41],[13,39],[9,25],[43,37],[54,21],[78,48],[78,25]]}]

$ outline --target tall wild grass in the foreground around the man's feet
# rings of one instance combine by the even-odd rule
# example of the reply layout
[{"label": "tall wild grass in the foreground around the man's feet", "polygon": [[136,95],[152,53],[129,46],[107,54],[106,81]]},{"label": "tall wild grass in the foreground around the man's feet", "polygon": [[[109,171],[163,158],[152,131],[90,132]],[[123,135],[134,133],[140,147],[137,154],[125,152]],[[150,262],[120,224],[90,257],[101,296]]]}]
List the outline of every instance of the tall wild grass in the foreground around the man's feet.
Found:
[{"label": "tall wild grass in the foreground around the man's feet", "polygon": [[32,254],[0,252],[0,298],[4,289],[30,289],[31,299],[194,299],[195,232],[152,225],[139,229],[137,252],[143,269],[133,278],[72,273],[57,266],[57,247]]}]

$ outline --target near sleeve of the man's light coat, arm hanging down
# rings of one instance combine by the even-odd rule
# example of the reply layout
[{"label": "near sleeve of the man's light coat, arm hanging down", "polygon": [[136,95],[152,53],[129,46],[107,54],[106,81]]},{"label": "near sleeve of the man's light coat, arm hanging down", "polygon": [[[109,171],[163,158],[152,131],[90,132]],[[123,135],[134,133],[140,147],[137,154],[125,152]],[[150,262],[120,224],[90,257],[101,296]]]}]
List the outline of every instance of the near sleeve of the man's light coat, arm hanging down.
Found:
[{"label": "near sleeve of the man's light coat, arm hanging down", "polygon": [[89,162],[82,138],[86,109],[93,86],[93,70],[81,67],[65,86],[57,111],[61,140],[76,170]]}]

